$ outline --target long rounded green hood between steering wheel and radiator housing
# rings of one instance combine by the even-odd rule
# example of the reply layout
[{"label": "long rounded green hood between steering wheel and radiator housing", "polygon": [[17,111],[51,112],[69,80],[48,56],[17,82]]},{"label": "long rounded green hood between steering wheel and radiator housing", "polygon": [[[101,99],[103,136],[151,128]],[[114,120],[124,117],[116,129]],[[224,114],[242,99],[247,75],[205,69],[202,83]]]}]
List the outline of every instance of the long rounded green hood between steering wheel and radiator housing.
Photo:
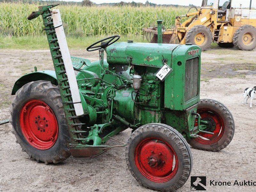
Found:
[{"label": "long rounded green hood between steering wheel and radiator housing", "polygon": [[163,59],[171,61],[172,51],[180,44],[118,42],[107,47],[108,64],[163,67]]}]

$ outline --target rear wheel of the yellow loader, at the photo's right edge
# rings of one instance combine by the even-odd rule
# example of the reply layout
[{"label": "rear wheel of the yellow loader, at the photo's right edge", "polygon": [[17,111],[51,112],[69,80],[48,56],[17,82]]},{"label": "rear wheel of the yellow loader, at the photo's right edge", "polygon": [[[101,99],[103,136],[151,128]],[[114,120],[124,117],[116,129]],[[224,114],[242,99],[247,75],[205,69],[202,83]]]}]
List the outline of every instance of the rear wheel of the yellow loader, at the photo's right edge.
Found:
[{"label": "rear wheel of the yellow loader, at the photo's right edge", "polygon": [[256,28],[244,25],[236,30],[233,36],[236,49],[252,51],[256,47]]}]

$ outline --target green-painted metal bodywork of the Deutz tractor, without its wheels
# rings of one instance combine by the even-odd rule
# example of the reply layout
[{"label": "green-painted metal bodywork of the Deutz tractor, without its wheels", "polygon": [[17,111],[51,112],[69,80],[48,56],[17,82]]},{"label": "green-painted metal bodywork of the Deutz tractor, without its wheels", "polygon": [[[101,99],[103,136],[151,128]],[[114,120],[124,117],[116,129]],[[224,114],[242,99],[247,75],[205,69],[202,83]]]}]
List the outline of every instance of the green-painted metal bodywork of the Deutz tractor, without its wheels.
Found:
[{"label": "green-painted metal bodywork of the Deutz tractor, without its wheels", "polygon": [[[46,19],[50,15],[49,9],[42,13],[55,73],[44,71],[27,74],[17,81],[13,92],[39,74],[41,76],[38,78],[49,79],[59,85],[72,150],[99,146],[109,139],[108,136],[128,126],[136,129],[148,123],[168,124],[187,139],[192,132],[199,131],[194,130],[195,115],[192,115],[192,111],[197,109],[200,92],[199,47],[117,42],[106,48],[107,60],[103,60],[104,49],[100,50],[99,61],[71,57],[74,68],[79,71],[76,79],[86,112],[78,118],[75,116],[55,30],[48,30],[53,28],[52,22]],[[192,50],[198,52],[191,55]],[[162,82],[156,73],[164,64],[173,71]],[[138,93],[132,87],[134,74],[142,77]],[[205,129],[204,124],[200,125],[201,130]]]}]

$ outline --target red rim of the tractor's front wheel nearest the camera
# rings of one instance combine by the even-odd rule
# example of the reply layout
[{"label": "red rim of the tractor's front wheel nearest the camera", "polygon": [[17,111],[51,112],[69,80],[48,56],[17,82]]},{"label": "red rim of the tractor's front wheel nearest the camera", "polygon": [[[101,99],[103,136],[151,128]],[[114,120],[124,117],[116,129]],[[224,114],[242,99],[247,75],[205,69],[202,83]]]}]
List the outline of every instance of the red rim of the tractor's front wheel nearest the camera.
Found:
[{"label": "red rim of the tractor's front wheel nearest the camera", "polygon": [[140,173],[157,183],[171,180],[178,170],[178,158],[172,146],[157,137],[141,140],[135,148],[134,160]]}]

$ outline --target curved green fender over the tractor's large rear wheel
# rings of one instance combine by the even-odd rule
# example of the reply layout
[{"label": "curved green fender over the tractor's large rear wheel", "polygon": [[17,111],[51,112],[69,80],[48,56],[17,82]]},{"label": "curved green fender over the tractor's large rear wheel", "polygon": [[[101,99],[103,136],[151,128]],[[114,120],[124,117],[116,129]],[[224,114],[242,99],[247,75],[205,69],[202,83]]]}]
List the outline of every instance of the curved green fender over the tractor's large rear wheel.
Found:
[{"label": "curved green fender over the tractor's large rear wheel", "polygon": [[32,82],[32,81],[51,81],[52,84],[58,85],[57,78],[55,71],[52,70],[44,70],[44,71],[36,71],[32,73],[28,73],[24,76],[21,76],[14,84],[12,88],[12,95],[15,93],[25,84]]}]

